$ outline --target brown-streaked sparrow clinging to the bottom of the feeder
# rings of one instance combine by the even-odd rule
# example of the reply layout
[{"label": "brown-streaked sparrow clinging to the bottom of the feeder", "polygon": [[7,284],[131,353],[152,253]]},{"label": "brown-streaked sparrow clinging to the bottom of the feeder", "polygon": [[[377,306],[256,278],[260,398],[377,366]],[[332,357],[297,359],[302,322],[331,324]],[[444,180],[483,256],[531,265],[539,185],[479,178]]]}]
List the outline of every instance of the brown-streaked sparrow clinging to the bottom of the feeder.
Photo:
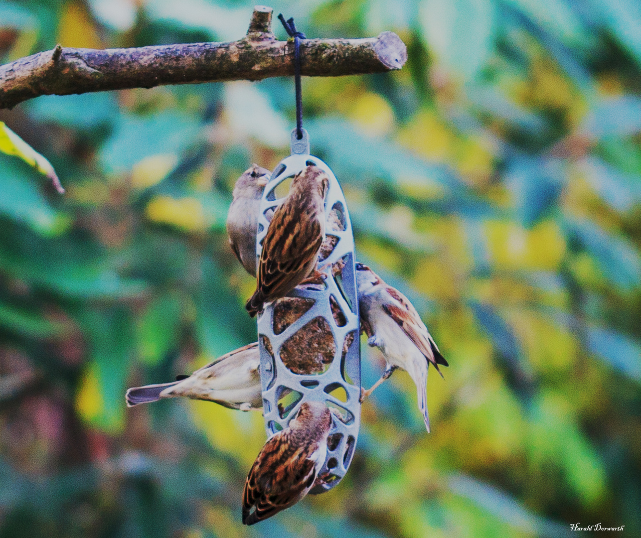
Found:
[{"label": "brown-streaked sparrow clinging to the bottom of the feeder", "polygon": [[244,525],[270,518],[308,494],[325,462],[331,424],[326,405],[305,402],[288,427],[267,440],[245,481]]}]

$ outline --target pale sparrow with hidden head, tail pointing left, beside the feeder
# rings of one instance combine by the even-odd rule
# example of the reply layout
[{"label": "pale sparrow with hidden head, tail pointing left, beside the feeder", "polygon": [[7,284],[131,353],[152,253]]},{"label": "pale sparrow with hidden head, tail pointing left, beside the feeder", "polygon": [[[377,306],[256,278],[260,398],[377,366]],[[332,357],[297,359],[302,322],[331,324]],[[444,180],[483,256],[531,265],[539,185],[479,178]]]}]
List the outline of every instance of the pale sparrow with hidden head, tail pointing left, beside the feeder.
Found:
[{"label": "pale sparrow with hidden head, tail pointing left, beside the feeder", "polygon": [[258,342],[254,342],[222,355],[192,375],[180,375],[172,383],[129,389],[125,395],[127,406],[187,396],[216,402],[229,409],[258,411],[263,405],[259,366]]}]

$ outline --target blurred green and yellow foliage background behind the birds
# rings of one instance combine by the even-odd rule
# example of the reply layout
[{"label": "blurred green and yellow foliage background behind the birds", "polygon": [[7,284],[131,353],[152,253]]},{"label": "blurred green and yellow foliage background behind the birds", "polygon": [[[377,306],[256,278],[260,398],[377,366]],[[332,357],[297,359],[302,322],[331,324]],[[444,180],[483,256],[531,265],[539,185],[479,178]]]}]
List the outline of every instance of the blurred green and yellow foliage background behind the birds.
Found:
[{"label": "blurred green and yellow foliage background behind the birds", "polygon": [[[0,120],[67,194],[0,154],[0,537],[641,535],[637,1],[272,7],[308,37],[392,30],[408,47],[399,72],[303,79],[304,126],[358,258],[449,361],[429,376],[432,433],[395,373],[343,482],[242,526],[262,416],[127,409],[124,391],[256,339],[224,222],[238,175],[288,155],[294,81],[38,97]],[[235,40],[252,8],[3,1],[0,61]],[[369,387],[383,362],[362,346]]]}]

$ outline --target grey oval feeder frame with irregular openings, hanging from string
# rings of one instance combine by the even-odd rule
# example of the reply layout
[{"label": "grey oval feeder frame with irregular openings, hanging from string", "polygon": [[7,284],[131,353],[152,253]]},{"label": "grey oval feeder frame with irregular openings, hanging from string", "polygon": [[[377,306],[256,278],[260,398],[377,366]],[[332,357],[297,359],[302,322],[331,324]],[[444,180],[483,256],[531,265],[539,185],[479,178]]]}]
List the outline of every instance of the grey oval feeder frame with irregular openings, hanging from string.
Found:
[{"label": "grey oval feeder frame with irregular openings, hanging from string", "polygon": [[[260,259],[269,221],[284,199],[276,197],[276,187],[294,177],[304,167],[315,165],[329,176],[329,189],[325,199],[325,229],[326,236],[331,236],[331,242],[324,243],[319,256],[319,268],[328,276],[324,284],[297,286],[288,295],[300,298],[299,306],[303,306],[303,310],[305,307],[307,309],[295,321],[286,324],[284,329],[279,318],[274,320],[274,309],[279,309],[283,299],[267,304],[258,316],[258,343],[263,416],[268,438],[287,427],[303,402],[320,402],[333,411],[327,457],[320,469],[319,478],[310,491],[318,494],[329,491],[345,476],[358,439],[361,411],[360,322],[356,297],[354,236],[345,197],[328,165],[310,155],[309,136],[304,129],[302,131],[301,140],[297,139],[296,129],[292,131],[292,154],[278,164],[265,186],[258,215],[256,256]],[[285,300],[289,304],[296,302],[294,299]],[[312,301],[313,305],[310,307]],[[297,338],[299,330],[303,330],[303,333]],[[314,334],[316,337],[319,334],[325,337],[324,341],[320,341],[320,355],[327,356],[328,349],[331,349],[327,342],[331,342],[331,339],[335,352],[331,362],[324,361],[328,363],[326,370],[301,373],[304,364],[296,362],[299,352],[297,348],[304,345],[307,339],[311,349]],[[281,353],[283,357],[286,355],[285,362]],[[318,365],[319,363],[314,366]],[[290,368],[297,370],[297,373]]]}]

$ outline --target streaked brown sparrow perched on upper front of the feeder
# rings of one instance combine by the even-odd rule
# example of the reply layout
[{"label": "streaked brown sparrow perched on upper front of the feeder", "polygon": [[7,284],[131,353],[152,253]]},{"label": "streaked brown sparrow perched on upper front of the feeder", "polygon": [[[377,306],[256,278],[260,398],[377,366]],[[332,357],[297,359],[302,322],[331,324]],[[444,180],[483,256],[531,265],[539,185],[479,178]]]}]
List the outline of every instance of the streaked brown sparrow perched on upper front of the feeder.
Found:
[{"label": "streaked brown sparrow perched on upper front of the feeder", "polygon": [[325,240],[324,200],[328,188],[328,175],[316,166],[305,167],[294,177],[263,240],[256,291],[246,304],[250,316],[262,311],[265,303],[285,297],[317,272],[320,245]]}]

